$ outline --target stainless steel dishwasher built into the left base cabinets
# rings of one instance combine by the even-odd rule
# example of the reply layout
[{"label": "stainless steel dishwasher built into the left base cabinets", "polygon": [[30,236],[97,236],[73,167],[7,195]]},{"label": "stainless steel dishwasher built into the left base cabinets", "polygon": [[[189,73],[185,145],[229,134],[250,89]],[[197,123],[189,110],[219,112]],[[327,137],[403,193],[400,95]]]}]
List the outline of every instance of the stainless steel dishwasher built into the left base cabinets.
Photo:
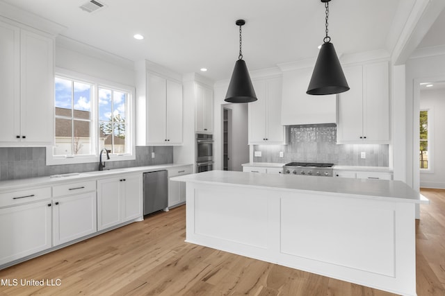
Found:
[{"label": "stainless steel dishwasher built into the left base cabinets", "polygon": [[144,215],[168,210],[168,173],[154,171],[144,173]]}]

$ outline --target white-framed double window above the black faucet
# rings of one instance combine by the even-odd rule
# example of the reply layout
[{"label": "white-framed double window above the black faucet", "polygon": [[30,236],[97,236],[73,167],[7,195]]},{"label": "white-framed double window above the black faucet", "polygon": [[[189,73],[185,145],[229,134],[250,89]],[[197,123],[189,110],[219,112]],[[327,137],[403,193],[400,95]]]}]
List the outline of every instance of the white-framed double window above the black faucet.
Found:
[{"label": "white-framed double window above the black faucet", "polygon": [[102,148],[111,161],[135,159],[132,100],[130,87],[80,74],[56,75],[55,139],[47,164],[97,162]]}]

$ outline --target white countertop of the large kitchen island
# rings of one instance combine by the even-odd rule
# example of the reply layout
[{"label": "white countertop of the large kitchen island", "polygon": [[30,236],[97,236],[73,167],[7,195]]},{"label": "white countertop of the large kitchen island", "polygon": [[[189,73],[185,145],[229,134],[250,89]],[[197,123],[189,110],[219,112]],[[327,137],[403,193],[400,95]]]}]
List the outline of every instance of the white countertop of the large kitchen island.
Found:
[{"label": "white countertop of the large kitchen island", "polygon": [[234,185],[283,191],[321,191],[337,196],[372,198],[396,202],[426,203],[429,201],[401,181],[273,175],[235,171],[208,171],[172,177],[170,180],[204,184]]}]

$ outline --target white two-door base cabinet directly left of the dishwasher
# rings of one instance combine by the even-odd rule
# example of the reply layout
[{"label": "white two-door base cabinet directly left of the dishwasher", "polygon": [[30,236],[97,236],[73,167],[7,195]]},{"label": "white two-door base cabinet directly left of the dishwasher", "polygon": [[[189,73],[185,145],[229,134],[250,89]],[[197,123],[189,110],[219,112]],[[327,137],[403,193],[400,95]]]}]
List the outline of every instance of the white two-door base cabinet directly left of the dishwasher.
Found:
[{"label": "white two-door base cabinet directly left of the dishwasher", "polygon": [[97,180],[97,229],[143,216],[142,174]]}]

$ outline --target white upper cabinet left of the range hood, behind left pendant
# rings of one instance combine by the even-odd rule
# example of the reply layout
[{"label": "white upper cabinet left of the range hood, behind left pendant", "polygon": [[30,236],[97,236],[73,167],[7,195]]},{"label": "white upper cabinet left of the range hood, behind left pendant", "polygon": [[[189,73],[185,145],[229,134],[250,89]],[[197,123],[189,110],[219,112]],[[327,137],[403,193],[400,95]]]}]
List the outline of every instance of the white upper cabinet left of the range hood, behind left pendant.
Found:
[{"label": "white upper cabinet left of the range hood, behind left pendant", "polygon": [[249,144],[286,143],[286,128],[281,123],[282,78],[252,80],[257,101],[249,103]]}]

